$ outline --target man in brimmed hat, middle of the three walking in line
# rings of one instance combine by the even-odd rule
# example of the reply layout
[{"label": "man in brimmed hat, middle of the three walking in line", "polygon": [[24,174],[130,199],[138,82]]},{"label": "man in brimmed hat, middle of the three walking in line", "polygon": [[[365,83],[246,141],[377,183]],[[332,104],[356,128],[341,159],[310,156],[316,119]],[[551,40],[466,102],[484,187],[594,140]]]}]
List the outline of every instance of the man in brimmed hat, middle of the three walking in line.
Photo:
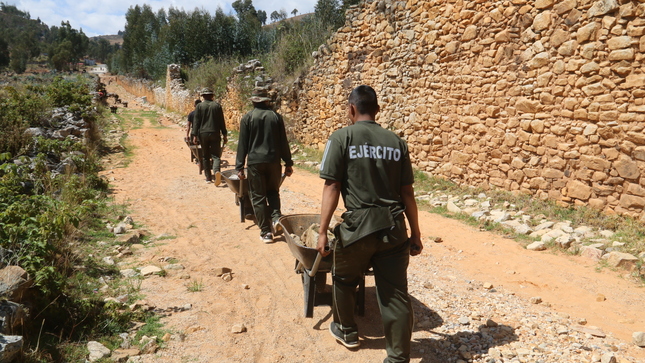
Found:
[{"label": "man in brimmed hat, middle of the three walking in line", "polygon": [[291,176],[293,161],[282,116],[270,107],[266,89],[256,88],[251,97],[253,110],[242,117],[240,141],[237,144],[235,169],[240,180],[245,178],[244,163],[249,173],[249,196],[260,227],[260,239],[273,242],[273,229],[280,211],[280,181]]}]

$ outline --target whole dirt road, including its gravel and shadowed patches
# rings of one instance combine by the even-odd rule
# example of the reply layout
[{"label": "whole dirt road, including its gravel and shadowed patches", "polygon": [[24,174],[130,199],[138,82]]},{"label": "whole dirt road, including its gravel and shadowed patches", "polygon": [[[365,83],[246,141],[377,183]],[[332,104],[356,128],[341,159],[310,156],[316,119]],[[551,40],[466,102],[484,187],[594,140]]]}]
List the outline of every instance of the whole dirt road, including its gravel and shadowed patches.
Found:
[{"label": "whole dirt road, including its gravel and shadowed patches", "polygon": [[[170,332],[162,349],[130,361],[382,361],[373,279],[366,279],[366,314],[358,319],[361,347],[348,350],[327,331],[328,306],[303,316],[301,278],[284,240],[260,242],[257,226],[240,223],[234,194],[205,183],[190,163],[185,131],[168,117],[142,117],[148,106],[112,87],[130,101],[120,117],[143,121],[129,130],[127,166],[112,161],[103,173],[116,202],[152,236],[118,262],[121,269],[164,268],[143,280],[140,293]],[[225,150],[229,164],[234,156]],[[281,189],[283,213],[318,213],[321,190],[317,175],[296,169]],[[611,355],[645,362],[632,343],[633,332],[645,331],[645,290],[620,272],[527,251],[434,214],[422,212],[421,225],[426,248],[409,268],[413,362],[600,362]],[[217,276],[223,267],[232,270],[230,281]],[[606,300],[597,301],[599,294]],[[537,297],[542,303],[532,303]]]}]

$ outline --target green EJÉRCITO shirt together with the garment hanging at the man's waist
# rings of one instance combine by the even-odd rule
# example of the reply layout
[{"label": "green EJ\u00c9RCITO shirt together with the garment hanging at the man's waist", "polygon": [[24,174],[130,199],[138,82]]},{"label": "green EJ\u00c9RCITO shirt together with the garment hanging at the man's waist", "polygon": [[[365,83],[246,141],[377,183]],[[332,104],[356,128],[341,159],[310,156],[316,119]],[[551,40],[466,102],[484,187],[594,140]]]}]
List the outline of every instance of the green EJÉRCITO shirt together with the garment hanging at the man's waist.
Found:
[{"label": "green EJ\u00c9RCITO shirt together with the garment hanging at the man's waist", "polygon": [[378,231],[393,243],[407,239],[401,228],[401,187],[414,183],[414,175],[407,144],[396,134],[374,121],[334,132],[325,147],[320,177],[341,183],[347,209],[340,226],[343,246]]}]

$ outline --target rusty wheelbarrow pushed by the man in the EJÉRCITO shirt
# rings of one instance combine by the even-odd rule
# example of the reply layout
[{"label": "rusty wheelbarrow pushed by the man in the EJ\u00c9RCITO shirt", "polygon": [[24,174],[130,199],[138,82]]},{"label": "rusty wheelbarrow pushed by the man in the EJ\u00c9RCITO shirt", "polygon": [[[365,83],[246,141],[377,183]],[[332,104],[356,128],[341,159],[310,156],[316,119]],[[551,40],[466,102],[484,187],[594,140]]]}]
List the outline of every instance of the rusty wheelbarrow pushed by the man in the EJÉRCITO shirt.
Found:
[{"label": "rusty wheelbarrow pushed by the man in the EJ\u00c9RCITO shirt", "polygon": [[[304,289],[305,317],[314,316],[314,306],[323,305],[327,272],[331,272],[333,252],[322,257],[315,248],[306,247],[296,242],[291,236],[301,236],[314,223],[320,223],[320,214],[292,214],[282,216],[278,223],[282,226],[289,251],[296,258],[295,271],[302,278]],[[359,316],[365,315],[365,275],[358,284],[356,309]]]}]

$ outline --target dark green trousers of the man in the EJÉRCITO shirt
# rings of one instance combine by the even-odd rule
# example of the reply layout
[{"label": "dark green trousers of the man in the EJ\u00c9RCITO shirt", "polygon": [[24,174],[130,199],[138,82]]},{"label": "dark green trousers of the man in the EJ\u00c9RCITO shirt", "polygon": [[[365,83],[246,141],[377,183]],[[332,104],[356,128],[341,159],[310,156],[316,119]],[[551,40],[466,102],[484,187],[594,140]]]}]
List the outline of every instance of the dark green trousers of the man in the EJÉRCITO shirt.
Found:
[{"label": "dark green trousers of the man in the EJ\u00c9RCITO shirt", "polygon": [[[405,227],[404,227],[405,228]],[[334,322],[346,334],[358,335],[354,320],[356,288],[371,265],[385,332],[384,363],[409,362],[414,315],[408,295],[410,242],[392,245],[372,233],[353,244],[336,244],[332,277]]]}]

